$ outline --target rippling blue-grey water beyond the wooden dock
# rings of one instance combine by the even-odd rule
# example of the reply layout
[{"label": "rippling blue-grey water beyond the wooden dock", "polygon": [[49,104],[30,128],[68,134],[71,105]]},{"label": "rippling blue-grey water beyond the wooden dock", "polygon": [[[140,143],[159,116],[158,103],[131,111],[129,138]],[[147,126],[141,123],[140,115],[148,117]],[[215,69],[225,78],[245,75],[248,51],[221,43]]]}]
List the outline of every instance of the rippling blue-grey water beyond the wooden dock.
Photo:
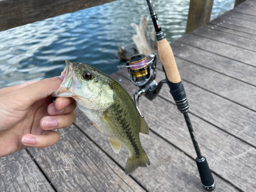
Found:
[{"label": "rippling blue-grey water beyond the wooden dock", "polygon": [[[189,0],[153,1],[169,42],[185,33]],[[211,19],[233,8],[215,0]],[[106,74],[121,69],[117,48],[134,47],[131,23],[149,15],[146,1],[118,0],[0,32],[0,88],[60,74],[65,60],[83,62]],[[150,20],[150,24],[152,21]]]}]

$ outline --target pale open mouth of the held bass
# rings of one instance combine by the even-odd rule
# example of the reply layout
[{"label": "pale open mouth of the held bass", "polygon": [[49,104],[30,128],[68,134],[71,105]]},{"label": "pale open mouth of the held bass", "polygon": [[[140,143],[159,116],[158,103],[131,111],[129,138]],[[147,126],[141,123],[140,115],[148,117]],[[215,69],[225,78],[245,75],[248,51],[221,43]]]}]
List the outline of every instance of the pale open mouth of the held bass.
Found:
[{"label": "pale open mouth of the held bass", "polygon": [[66,67],[61,73],[65,75],[59,89],[57,89],[51,96],[52,97],[73,97],[73,91],[80,84],[76,78],[74,64],[66,60]]}]

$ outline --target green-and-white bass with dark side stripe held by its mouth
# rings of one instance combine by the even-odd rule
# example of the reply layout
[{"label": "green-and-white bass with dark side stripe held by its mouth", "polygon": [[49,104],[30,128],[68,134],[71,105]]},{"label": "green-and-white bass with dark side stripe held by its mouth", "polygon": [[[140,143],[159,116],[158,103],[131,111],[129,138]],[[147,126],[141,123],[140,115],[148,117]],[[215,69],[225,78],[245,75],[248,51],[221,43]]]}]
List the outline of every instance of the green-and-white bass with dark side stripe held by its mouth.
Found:
[{"label": "green-and-white bass with dark side stripe held by its mouth", "polygon": [[66,60],[65,77],[53,97],[72,97],[78,108],[109,138],[114,152],[129,152],[125,174],[150,165],[139,133],[149,134],[129,93],[113,78],[80,62]]}]

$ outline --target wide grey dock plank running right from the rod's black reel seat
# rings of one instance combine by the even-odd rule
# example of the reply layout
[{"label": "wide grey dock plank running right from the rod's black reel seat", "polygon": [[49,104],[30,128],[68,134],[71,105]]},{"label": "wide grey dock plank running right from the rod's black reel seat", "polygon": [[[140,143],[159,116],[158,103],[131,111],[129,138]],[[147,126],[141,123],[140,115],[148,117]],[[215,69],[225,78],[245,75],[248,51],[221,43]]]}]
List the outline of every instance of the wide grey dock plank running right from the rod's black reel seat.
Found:
[{"label": "wide grey dock plank running right from the rod's black reel seat", "polygon": [[[164,77],[164,73],[158,70],[157,80]],[[204,81],[205,79],[201,79]],[[234,135],[245,142],[256,146],[256,113],[222,98],[214,93],[202,90],[189,82],[184,82],[186,95],[190,105],[189,111],[196,116],[210,122],[220,129]],[[239,90],[238,90],[239,91]],[[167,87],[163,87],[160,95],[174,102],[169,95]]]}]

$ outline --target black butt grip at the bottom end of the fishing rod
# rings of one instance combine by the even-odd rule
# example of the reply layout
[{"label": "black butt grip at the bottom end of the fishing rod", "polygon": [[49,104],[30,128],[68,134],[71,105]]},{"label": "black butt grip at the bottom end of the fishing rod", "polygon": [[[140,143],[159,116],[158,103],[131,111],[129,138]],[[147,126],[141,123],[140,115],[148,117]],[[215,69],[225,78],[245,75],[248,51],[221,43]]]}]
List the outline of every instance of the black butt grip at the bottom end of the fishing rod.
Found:
[{"label": "black butt grip at the bottom end of the fishing rod", "polygon": [[210,168],[208,166],[206,158],[202,157],[201,159],[199,159],[197,157],[196,162],[204,189],[208,191],[214,190],[215,181],[211,175]]}]

